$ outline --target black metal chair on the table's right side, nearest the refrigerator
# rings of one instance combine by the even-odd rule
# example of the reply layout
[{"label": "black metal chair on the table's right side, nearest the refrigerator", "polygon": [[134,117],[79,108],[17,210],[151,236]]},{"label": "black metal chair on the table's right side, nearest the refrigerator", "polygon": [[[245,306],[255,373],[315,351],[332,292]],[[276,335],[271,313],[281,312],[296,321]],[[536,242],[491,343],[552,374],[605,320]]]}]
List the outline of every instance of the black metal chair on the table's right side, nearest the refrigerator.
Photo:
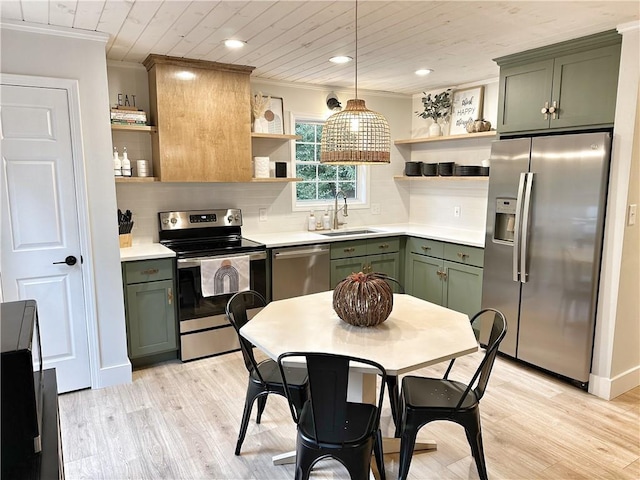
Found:
[{"label": "black metal chair on the table's right side, nearest the refrigerator", "polygon": [[[476,461],[478,475],[487,479],[487,466],[482,445],[480,425],[480,399],[487,388],[487,382],[498,353],[500,342],[507,332],[507,321],[502,312],[493,308],[481,310],[473,316],[471,324],[479,337],[484,329],[481,322],[484,314],[493,313],[493,322],[486,342],[484,357],[468,384],[449,380],[449,372],[455,361],[451,360],[444,378],[406,376],[402,379],[400,406],[402,408],[400,466],[398,478],[404,480],[409,473],[413,448],[418,430],[435,420],[448,420],[462,425],[465,429],[471,453]],[[480,326],[479,326],[480,325]]]}]

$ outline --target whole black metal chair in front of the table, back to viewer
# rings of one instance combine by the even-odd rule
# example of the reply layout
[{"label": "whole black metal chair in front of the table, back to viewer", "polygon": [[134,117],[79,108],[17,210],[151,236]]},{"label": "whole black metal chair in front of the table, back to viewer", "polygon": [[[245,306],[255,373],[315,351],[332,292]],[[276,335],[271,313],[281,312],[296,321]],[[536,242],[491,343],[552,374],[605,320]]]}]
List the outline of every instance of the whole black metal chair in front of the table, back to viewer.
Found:
[{"label": "whole black metal chair in front of the table, back to viewer", "polygon": [[342,463],[352,480],[368,479],[372,452],[380,478],[385,480],[380,432],[384,387],[378,389],[376,405],[347,401],[351,362],[373,367],[383,382],[386,379],[384,367],[371,360],[344,355],[283,353],[278,357],[278,366],[285,386],[289,385],[289,373],[292,371],[285,364],[294,357],[306,361],[310,391],[309,399],[300,412],[289,396],[291,415],[298,425],[296,480],[307,480],[315,463],[327,457]]}]

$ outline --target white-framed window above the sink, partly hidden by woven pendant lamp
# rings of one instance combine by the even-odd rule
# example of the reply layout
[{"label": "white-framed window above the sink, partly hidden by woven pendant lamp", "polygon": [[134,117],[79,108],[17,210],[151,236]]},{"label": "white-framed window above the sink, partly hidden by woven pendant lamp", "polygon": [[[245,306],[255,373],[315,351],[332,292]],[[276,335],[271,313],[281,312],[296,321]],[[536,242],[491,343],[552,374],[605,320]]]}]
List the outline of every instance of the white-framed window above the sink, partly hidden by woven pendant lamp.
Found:
[{"label": "white-framed window above the sink, partly hidden by woven pendant lamp", "polygon": [[323,165],[320,163],[322,120],[295,120],[295,206],[309,208],[333,204],[336,192],[342,190],[347,198],[364,204],[366,173],[356,165]]}]

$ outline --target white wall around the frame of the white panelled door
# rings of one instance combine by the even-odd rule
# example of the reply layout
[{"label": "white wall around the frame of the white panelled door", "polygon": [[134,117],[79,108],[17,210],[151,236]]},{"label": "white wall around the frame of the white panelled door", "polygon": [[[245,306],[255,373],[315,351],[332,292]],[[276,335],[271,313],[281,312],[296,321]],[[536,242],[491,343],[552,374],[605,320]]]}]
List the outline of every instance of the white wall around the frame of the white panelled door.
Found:
[{"label": "white wall around the frame of the white panelled door", "polygon": [[[16,29],[19,28],[19,29]],[[92,386],[104,387],[131,381],[120,251],[116,221],[116,195],[110,151],[105,37],[70,29],[51,29],[21,22],[3,24],[1,63],[3,73],[57,78],[79,82],[82,148],[89,212],[86,233],[91,242],[95,299],[94,316],[87,319],[92,361]],[[79,38],[83,37],[83,38]]]}]

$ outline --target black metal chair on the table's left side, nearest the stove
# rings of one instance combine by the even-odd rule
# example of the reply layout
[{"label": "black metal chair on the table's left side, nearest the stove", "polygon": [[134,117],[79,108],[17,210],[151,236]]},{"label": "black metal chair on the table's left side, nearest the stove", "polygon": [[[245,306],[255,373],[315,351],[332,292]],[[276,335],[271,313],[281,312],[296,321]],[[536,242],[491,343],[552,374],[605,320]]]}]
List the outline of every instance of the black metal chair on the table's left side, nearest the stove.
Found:
[{"label": "black metal chair on the table's left side, nearest the stove", "polygon": [[278,364],[271,359],[266,359],[258,363],[253,356],[253,345],[246,338],[240,335],[240,329],[249,321],[247,310],[264,307],[267,304],[262,295],[253,290],[246,290],[234,294],[227,302],[227,319],[233,325],[240,341],[240,349],[244,357],[244,365],[249,372],[249,384],[247,386],[247,396],[240,423],[240,433],[236,443],[236,455],[240,455],[240,448],[247,433],[249,418],[253,403],[258,400],[258,415],[256,423],[260,423],[262,413],[267,404],[267,396],[271,393],[288,397],[299,410],[307,399],[307,373],[303,368],[293,369],[289,375],[290,395],[285,394],[284,384],[278,369]]}]

